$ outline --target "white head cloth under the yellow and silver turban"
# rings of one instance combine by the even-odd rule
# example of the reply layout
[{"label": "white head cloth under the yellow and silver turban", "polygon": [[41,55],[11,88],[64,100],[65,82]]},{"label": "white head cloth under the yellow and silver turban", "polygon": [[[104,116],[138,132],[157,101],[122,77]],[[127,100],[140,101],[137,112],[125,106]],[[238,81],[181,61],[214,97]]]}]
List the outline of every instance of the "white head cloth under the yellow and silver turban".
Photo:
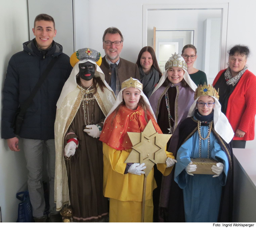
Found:
[{"label": "white head cloth under the yellow and silver turban", "polygon": [[113,92],[113,90],[109,87],[108,83],[105,81],[105,76],[103,74],[103,72],[101,71],[100,67],[92,60],[80,60],[78,61],[75,66],[73,67],[73,70],[68,78],[68,80],[65,82],[59,100],[57,102],[57,107],[58,109],[60,108],[64,98],[72,91],[76,88],[77,83],[76,83],[76,75],[79,73],[79,64],[81,63],[85,63],[85,62],[91,62],[92,64],[95,64],[95,76],[99,76],[101,78],[101,80],[103,81],[103,83],[105,84],[106,88],[108,88],[110,91]]}]

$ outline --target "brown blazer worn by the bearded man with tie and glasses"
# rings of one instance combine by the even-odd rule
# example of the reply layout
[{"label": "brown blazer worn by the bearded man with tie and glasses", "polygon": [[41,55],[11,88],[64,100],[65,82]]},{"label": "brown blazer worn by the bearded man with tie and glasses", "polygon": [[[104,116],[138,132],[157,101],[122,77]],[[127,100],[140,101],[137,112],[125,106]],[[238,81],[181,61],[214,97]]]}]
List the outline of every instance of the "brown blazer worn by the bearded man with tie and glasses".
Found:
[{"label": "brown blazer worn by the bearded man with tie and glasses", "polygon": [[[102,58],[102,63],[100,65],[100,68],[105,75],[105,81],[108,84],[110,84],[111,70],[109,69],[109,64],[106,62],[106,56]],[[122,82],[129,79],[130,77],[140,81],[140,73],[139,73],[138,65],[128,60],[120,58],[120,61],[118,64],[118,78],[119,78],[120,84],[122,84]]]}]

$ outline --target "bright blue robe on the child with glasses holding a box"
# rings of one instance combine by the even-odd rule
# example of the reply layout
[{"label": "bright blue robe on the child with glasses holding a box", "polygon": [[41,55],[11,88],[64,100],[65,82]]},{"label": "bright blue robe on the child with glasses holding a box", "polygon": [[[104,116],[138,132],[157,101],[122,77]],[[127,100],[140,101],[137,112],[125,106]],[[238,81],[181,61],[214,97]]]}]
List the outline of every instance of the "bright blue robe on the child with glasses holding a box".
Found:
[{"label": "bright blue robe on the child with glasses holding a box", "polygon": [[[208,135],[208,126],[201,126],[201,136]],[[208,139],[201,140],[201,157],[207,158]],[[196,131],[177,151],[174,181],[183,189],[186,222],[217,222],[221,203],[222,186],[228,173],[228,158],[213,133],[210,134],[211,158],[224,164],[218,177],[213,175],[188,175],[185,168],[190,158],[199,158],[199,135]],[[191,172],[193,174],[193,172]]]}]

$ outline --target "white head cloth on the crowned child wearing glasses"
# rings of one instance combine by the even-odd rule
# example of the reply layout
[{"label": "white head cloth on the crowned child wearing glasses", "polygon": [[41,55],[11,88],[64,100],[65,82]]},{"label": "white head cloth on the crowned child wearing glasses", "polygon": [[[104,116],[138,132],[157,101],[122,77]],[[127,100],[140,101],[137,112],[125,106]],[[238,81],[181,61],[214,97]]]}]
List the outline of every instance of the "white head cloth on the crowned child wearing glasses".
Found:
[{"label": "white head cloth on the crowned child wearing glasses", "polygon": [[[215,100],[215,104],[214,104],[215,106],[214,106],[214,112],[213,112],[214,129],[219,134],[219,136],[221,136],[227,143],[229,143],[234,137],[233,129],[226,115],[221,112],[221,104],[219,103],[218,99],[214,96],[211,96],[211,97],[213,97]],[[187,118],[194,116],[198,98],[194,101],[194,103],[190,107]]]}]

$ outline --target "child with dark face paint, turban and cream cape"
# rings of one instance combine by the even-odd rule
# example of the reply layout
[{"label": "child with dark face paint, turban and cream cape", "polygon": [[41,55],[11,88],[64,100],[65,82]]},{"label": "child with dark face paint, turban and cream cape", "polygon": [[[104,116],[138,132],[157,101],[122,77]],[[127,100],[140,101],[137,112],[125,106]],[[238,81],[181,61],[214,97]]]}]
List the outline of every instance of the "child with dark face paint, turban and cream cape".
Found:
[{"label": "child with dark face paint, turban and cream cape", "polygon": [[[56,178],[56,205],[66,209],[70,199],[73,222],[106,222],[108,199],[103,196],[102,142],[98,137],[115,97],[99,67],[99,52],[79,49],[70,63],[73,71],[58,100],[55,122],[56,165],[61,167],[56,169],[60,177]],[[61,170],[67,174],[60,174]]]}]

